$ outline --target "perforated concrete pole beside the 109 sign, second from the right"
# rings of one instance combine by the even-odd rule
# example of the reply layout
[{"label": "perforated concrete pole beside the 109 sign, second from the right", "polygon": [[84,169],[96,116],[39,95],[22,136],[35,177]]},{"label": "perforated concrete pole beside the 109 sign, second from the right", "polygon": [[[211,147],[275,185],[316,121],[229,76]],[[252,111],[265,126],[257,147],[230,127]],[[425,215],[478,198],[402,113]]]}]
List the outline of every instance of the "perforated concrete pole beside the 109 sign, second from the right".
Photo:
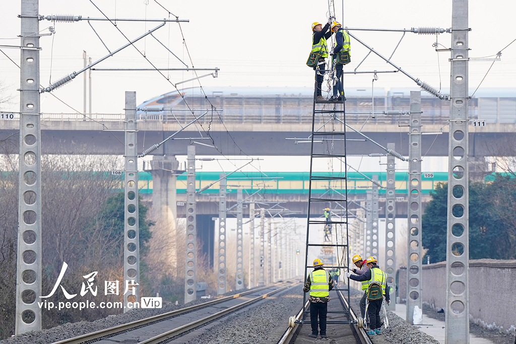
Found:
[{"label": "perforated concrete pole beside the 109 sign, second from the right", "polygon": [[413,324],[414,307],[421,298],[421,91],[410,92],[408,181],[407,322]]}]

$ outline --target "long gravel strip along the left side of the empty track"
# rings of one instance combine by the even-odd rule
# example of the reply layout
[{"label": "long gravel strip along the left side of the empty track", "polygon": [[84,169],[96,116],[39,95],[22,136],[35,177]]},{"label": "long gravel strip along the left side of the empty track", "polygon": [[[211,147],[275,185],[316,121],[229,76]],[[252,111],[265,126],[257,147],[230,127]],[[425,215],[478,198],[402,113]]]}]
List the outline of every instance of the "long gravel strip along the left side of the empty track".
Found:
[{"label": "long gravel strip along the left side of the empty track", "polygon": [[[236,293],[244,292],[248,289],[241,289],[237,291],[231,291],[225,294],[225,296],[230,296]],[[21,335],[0,340],[0,344],[50,344],[59,340],[77,337],[83,334],[92,333],[95,331],[107,329],[109,327],[114,327],[117,325],[125,324],[128,322],[140,320],[143,318],[152,317],[158,314],[163,314],[167,312],[171,312],[172,310],[181,309],[189,306],[193,306],[196,304],[204,303],[206,301],[211,301],[212,299],[202,299],[192,301],[186,305],[175,305],[175,304],[167,304],[164,305],[163,308],[140,308],[133,309],[130,312],[111,315],[107,318],[95,320],[92,322],[88,321],[79,321],[74,323],[66,323],[61,326],[52,327],[52,329],[43,330],[43,331],[30,331],[27,333],[23,333]]]}]

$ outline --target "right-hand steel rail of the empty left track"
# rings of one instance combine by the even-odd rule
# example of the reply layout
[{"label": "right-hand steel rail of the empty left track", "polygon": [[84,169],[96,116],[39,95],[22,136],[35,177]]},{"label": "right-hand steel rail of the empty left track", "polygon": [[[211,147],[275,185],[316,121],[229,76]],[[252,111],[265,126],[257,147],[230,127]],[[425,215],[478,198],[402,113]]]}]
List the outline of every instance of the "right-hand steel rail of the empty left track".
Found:
[{"label": "right-hand steel rail of the empty left track", "polygon": [[216,319],[218,319],[220,317],[223,317],[223,316],[225,316],[227,314],[233,313],[233,312],[235,312],[236,310],[238,310],[240,308],[243,308],[243,307],[245,307],[247,305],[250,305],[250,304],[252,304],[254,302],[257,302],[257,301],[260,301],[262,299],[265,299],[265,298],[271,296],[272,294],[276,294],[276,293],[278,293],[280,291],[283,291],[283,290],[285,290],[287,288],[290,288],[290,287],[292,287],[292,286],[294,286],[296,284],[298,284],[298,283],[295,283],[295,284],[292,284],[292,285],[286,285],[284,287],[281,287],[281,288],[278,288],[276,290],[270,291],[270,292],[268,292],[266,294],[263,294],[262,296],[256,297],[254,299],[248,300],[248,301],[243,302],[243,303],[240,303],[240,304],[235,305],[233,307],[229,307],[229,308],[223,309],[220,312],[217,312],[215,314],[209,315],[209,316],[204,317],[204,318],[202,318],[200,320],[192,321],[192,322],[190,322],[190,323],[188,323],[186,325],[177,327],[176,329],[170,330],[170,331],[168,331],[166,333],[157,335],[155,337],[149,338],[149,339],[144,340],[144,341],[140,341],[139,344],[157,344],[157,343],[160,343],[162,341],[165,341],[167,339],[170,339],[172,337],[180,335],[180,334],[182,334],[184,332],[187,332],[187,331],[190,331],[192,329],[195,329],[196,327],[199,327],[199,326],[201,326],[201,325],[203,325],[203,324],[205,324],[207,322],[211,322],[211,321],[216,320]]}]

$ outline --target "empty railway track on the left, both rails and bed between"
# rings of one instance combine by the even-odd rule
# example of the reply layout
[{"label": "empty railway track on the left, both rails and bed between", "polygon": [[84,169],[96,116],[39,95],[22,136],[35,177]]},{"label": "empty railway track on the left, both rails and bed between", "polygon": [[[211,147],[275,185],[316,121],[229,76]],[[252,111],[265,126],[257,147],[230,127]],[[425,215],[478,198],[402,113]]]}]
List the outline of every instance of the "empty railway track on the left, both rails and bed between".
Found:
[{"label": "empty railway track on the left, both rails and bed between", "polygon": [[114,342],[157,344],[160,342],[171,342],[177,337],[195,332],[204,324],[237,312],[241,308],[298,284],[285,282],[255,288],[233,296],[173,310],[172,312],[110,327],[86,335],[60,340],[53,344],[112,344]]}]

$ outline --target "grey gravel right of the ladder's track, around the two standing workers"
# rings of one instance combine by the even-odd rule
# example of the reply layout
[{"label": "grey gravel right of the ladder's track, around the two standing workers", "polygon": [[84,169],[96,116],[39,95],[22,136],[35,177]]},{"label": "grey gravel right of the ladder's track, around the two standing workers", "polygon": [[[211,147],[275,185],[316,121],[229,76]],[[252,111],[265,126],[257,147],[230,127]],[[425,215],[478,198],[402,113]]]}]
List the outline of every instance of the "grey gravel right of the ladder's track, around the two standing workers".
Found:
[{"label": "grey gravel right of the ladder's track, around the two standing workers", "polygon": [[[357,315],[360,315],[359,303],[362,294],[363,292],[354,290],[350,297],[351,308]],[[380,315],[382,321],[384,321],[383,310],[380,312]],[[408,324],[405,320],[401,319],[390,310],[387,311],[387,317],[389,318],[389,327],[388,329],[385,329],[385,327],[382,326],[382,335],[371,337],[374,344],[439,344],[439,341],[426,333],[421,332],[417,326]]]}]

